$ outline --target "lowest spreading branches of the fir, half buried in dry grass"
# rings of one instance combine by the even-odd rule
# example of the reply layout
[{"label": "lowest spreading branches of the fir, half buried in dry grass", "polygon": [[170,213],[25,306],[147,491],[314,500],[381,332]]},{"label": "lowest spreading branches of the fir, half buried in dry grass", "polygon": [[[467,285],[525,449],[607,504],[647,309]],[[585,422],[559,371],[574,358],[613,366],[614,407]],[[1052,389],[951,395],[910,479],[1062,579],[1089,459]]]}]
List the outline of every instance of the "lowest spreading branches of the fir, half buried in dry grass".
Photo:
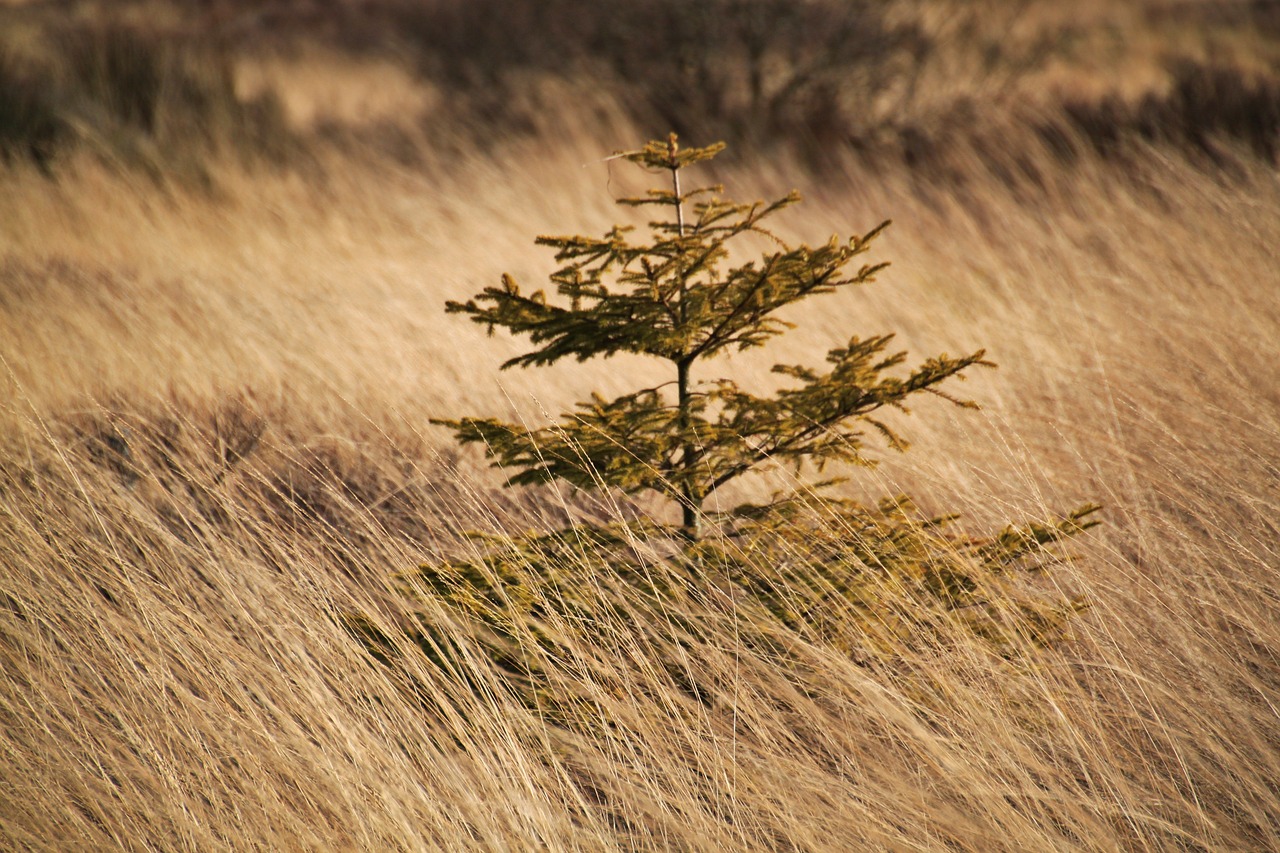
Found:
[{"label": "lowest spreading branches of the fir, half buried in dry grass", "polygon": [[[494,689],[475,670],[488,660],[490,676],[530,711],[584,730],[617,722],[602,693],[666,688],[698,704],[727,704],[731,690],[689,662],[723,642],[724,602],[735,642],[780,662],[797,639],[868,667],[895,667],[973,637],[1016,658],[1069,637],[1068,620],[1085,606],[1021,578],[1048,566],[1046,546],[1092,526],[1096,508],[984,538],[955,533],[950,519],[922,516],[905,498],[876,508],[774,505],[684,547],[669,546],[675,529],[650,523],[489,537],[480,558],[424,564],[403,576],[410,598],[433,602],[413,613],[404,639],[477,690]],[[403,653],[402,642],[365,619],[347,629],[384,665]],[[618,660],[637,648],[644,688],[625,681]]]}]

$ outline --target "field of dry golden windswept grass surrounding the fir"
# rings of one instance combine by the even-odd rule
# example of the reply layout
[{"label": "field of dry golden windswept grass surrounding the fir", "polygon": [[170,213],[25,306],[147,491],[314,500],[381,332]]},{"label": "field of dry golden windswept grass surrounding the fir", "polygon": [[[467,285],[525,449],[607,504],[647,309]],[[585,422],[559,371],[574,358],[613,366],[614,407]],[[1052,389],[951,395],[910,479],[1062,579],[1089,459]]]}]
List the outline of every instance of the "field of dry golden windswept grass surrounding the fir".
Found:
[{"label": "field of dry golden windswept grass surrounding the fir", "polygon": [[[982,72],[945,14],[965,4],[902,3],[938,33],[910,133],[820,165],[731,138],[709,175],[797,187],[787,238],[895,220],[878,283],[726,371],[768,383],[851,333],[986,347],[1000,369],[961,388],[982,411],[922,405],[895,421],[913,448],[845,488],[975,529],[1102,503],[1047,581],[1092,602],[1071,639],[868,666],[732,597],[654,610],[584,576],[608,607],[562,626],[568,720],[461,625],[453,666],[407,642],[384,666],[344,625],[399,637],[397,574],[465,530],[635,511],[504,489],[428,420],[636,387],[622,357],[499,373],[521,342],[443,302],[545,277],[535,234],[623,220],[643,184],[604,158],[666,128],[554,74],[508,92],[508,126],[367,47],[372,24],[282,47],[302,23],[219,5],[257,27],[237,91],[274,92],[296,163],[214,140],[196,174],[143,140],[0,164],[0,848],[1280,849],[1280,178],[1225,119],[1137,123],[1123,151],[1096,122],[1046,131],[1061,101],[1162,93],[1178,56],[1276,74],[1274,4],[1024,4],[991,26],[1051,61]],[[100,14],[0,12],[55,6]],[[964,99],[974,132],[922,147]]]}]

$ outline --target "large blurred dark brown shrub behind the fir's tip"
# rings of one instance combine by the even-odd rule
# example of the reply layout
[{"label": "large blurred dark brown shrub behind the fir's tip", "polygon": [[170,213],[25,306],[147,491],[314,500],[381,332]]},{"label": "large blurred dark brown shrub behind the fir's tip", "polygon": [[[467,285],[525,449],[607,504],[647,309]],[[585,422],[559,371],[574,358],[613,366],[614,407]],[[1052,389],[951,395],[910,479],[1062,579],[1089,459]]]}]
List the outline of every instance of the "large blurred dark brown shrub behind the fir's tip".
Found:
[{"label": "large blurred dark brown shrub behind the fir's tip", "polygon": [[919,29],[867,0],[442,1],[404,4],[397,28],[422,73],[462,96],[588,72],[641,123],[749,141],[861,129],[927,54]]}]

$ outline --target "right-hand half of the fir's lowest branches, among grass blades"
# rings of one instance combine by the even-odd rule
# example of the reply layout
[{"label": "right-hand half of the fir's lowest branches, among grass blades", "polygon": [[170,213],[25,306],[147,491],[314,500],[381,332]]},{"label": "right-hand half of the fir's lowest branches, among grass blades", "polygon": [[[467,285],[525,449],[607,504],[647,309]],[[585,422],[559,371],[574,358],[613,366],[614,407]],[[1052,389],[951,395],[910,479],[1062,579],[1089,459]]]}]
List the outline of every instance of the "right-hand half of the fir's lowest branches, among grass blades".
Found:
[{"label": "right-hand half of the fir's lowest branches, among grass blades", "polygon": [[1048,567],[1048,546],[1096,524],[1083,506],[1051,523],[993,537],[952,532],[952,516],[922,516],[905,497],[874,510],[845,501],[769,510],[733,524],[713,560],[791,630],[861,658],[932,646],[961,628],[1002,653],[1061,639],[1083,599],[1060,601],[1020,585]]}]

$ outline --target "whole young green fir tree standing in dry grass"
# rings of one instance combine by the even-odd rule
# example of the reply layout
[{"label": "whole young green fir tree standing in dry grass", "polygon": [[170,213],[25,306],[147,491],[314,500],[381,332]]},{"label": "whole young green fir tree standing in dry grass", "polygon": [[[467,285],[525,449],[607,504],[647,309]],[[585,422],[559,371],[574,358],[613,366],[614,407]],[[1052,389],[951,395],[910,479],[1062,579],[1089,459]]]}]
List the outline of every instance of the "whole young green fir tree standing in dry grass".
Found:
[{"label": "whole young green fir tree standing in dry grass", "polygon": [[[662,215],[643,241],[622,227],[602,238],[538,238],[563,264],[552,275],[558,301],[541,291],[525,295],[503,277],[502,287],[448,304],[490,328],[529,336],[534,348],[508,368],[616,352],[669,364],[664,386],[595,397],[541,429],[477,418],[435,421],[462,442],[484,443],[513,483],[648,491],[680,507],[675,530],[641,521],[483,537],[479,555],[425,562],[402,576],[410,598],[428,605],[415,607],[407,635],[429,660],[470,672],[475,658],[465,647],[479,643],[530,708],[571,725],[599,725],[593,690],[621,689],[617,662],[593,657],[595,631],[620,619],[645,637],[640,646],[676,688],[708,701],[716,686],[689,669],[687,649],[719,644],[714,612],[696,610],[696,601],[714,599],[691,590],[730,592],[745,613],[732,630],[751,633],[741,637],[748,646],[785,658],[790,638],[801,638],[867,662],[938,648],[957,629],[1016,657],[1060,639],[1068,616],[1083,606],[1016,578],[1046,569],[1055,543],[1092,526],[1092,505],[986,537],[956,533],[948,524],[955,516],[922,516],[902,497],[867,507],[817,497],[812,488],[764,506],[704,512],[717,489],[769,461],[868,462],[867,428],[902,448],[878,414],[904,409],[918,393],[947,397],[941,383],[986,364],[980,351],[937,356],[895,375],[905,356],[886,355],[886,334],[832,350],[823,371],[774,368],[792,380],[774,396],[705,378],[700,368],[717,353],[762,346],[783,332],[782,307],[869,282],[884,266],[856,264],[884,225],[847,242],[788,246],[765,220],[795,204],[795,195],[744,205],[721,200],[718,187],[684,190],[681,172],[722,147],[681,150],[672,136],[621,155],[669,177],[668,187],[622,200]],[[730,243],[750,234],[771,238],[773,250],[732,265]],[[704,535],[707,519],[721,523],[716,535]],[[582,583],[584,573],[593,583]],[[664,617],[652,619],[655,612]],[[347,624],[378,660],[394,665],[394,638],[358,615]]]}]

